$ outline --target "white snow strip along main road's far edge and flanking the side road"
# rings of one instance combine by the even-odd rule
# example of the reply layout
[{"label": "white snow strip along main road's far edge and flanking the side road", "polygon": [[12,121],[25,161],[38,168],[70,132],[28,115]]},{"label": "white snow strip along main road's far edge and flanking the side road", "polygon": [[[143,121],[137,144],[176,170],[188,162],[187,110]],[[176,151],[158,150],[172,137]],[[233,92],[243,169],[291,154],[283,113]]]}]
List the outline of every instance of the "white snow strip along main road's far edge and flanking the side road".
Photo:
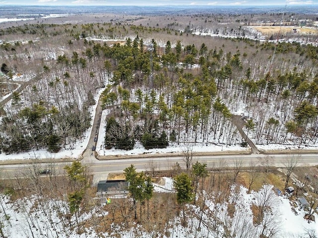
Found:
[{"label": "white snow strip along main road's far edge and flanking the side road", "polygon": [[[98,95],[95,96],[95,100],[97,101],[98,97],[102,93],[103,90],[98,92]],[[91,108],[91,115],[93,116],[91,119],[91,124],[93,123],[95,110],[97,104],[92,106]],[[238,108],[236,112],[233,112],[235,115],[241,115],[244,112],[242,108]],[[213,144],[213,143],[180,143],[179,145],[175,143],[169,143],[167,148],[163,149],[150,149],[146,150],[140,142],[137,142],[135,148],[133,150],[116,150],[110,149],[105,150],[104,148],[104,134],[105,134],[105,116],[107,115],[107,110],[102,112],[102,121],[99,127],[99,136],[96,143],[96,152],[101,156],[114,156],[114,155],[138,155],[138,154],[164,154],[164,153],[182,153],[187,147],[192,147],[192,151],[195,153],[215,153],[215,152],[222,152],[222,151],[239,151],[239,152],[247,152],[249,148],[244,148],[239,145],[222,145],[222,144]],[[46,150],[34,150],[25,153],[19,154],[1,154],[0,161],[4,160],[25,160],[25,159],[58,159],[58,158],[72,158],[77,159],[82,154],[84,149],[87,146],[89,136],[91,133],[91,127],[86,131],[85,138],[82,141],[78,141],[75,149],[62,149],[58,153],[50,153]],[[250,132],[251,133],[251,132]],[[268,144],[268,145],[257,145],[257,148],[260,150],[265,151],[278,151],[278,150],[290,150],[290,149],[304,149],[304,150],[317,150],[317,147],[306,147],[302,146],[299,148],[298,145],[280,145],[280,144]]]}]

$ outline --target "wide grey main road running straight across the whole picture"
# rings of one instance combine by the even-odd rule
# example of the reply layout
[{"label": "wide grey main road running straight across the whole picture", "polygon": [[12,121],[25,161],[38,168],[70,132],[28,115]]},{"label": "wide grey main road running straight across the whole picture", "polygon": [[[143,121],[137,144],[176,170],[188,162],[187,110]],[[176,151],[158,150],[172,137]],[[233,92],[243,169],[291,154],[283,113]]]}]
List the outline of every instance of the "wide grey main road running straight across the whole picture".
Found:
[{"label": "wide grey main road running straight across the whole picture", "polygon": [[[218,167],[235,167],[237,160],[243,161],[243,166],[248,167],[250,161],[252,161],[256,166],[261,165],[260,158],[265,158],[268,155],[216,155],[216,156],[195,156],[193,162],[199,161],[200,163],[206,163],[208,168],[218,168]],[[298,156],[300,159],[299,166],[314,166],[318,165],[318,155],[317,154],[299,154],[299,155],[271,155],[272,166],[284,167],[284,162],[291,156]],[[133,159],[116,159],[116,160],[83,160],[82,163],[90,168],[90,172],[96,177],[107,178],[108,173],[123,172],[123,170],[134,164],[137,171],[150,171],[151,168],[155,170],[167,170],[171,169],[175,163],[178,162],[181,168],[185,168],[185,163],[183,158],[180,157],[159,157],[159,158],[133,158]],[[57,173],[63,173],[63,168],[65,165],[71,162],[60,162],[55,163]],[[16,164],[16,165],[1,165],[0,177],[3,178],[14,178],[15,176],[23,176],[26,171],[29,170],[30,164]],[[50,168],[50,164],[37,164],[41,169]]]}]

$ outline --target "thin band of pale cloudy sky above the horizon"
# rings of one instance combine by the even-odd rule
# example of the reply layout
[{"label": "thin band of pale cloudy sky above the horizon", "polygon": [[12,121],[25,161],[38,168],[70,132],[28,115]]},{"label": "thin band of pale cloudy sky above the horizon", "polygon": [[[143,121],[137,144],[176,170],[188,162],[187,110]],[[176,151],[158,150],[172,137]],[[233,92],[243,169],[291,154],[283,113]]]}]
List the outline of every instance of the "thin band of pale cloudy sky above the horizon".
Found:
[{"label": "thin band of pale cloudy sky above the horizon", "polygon": [[310,5],[318,0],[0,0],[22,5]]}]

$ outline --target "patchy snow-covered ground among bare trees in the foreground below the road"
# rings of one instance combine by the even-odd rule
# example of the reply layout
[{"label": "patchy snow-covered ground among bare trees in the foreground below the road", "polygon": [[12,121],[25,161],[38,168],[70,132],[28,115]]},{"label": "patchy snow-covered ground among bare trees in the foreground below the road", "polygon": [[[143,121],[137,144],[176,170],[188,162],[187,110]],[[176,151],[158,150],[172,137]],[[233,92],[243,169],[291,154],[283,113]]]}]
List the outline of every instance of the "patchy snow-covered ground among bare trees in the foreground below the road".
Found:
[{"label": "patchy snow-covered ground among bare trees in the foreground below the road", "polygon": [[[163,184],[161,181],[160,185],[155,184],[155,191],[171,192],[173,189],[172,179],[162,178],[162,180],[165,183]],[[251,191],[249,194],[246,188],[233,186],[229,204],[235,205],[235,212],[231,216],[228,213],[228,203],[216,203],[212,196],[208,194],[205,196],[206,210],[202,216],[203,222],[200,225],[200,231],[196,229],[199,225],[197,219],[199,216],[189,216],[190,213],[199,215],[200,208],[188,205],[189,211],[186,212],[188,226],[182,227],[180,225],[181,214],[176,216],[170,221],[169,238],[224,237],[227,229],[235,238],[256,238],[262,233],[267,236],[271,233],[272,238],[305,238],[308,237],[308,234],[318,236],[317,224],[304,219],[306,211],[296,207],[295,210],[298,214],[296,215],[292,211],[289,199],[276,195],[271,185],[264,185],[259,191]],[[111,198],[116,199],[115,196]],[[255,225],[253,224],[251,207],[263,202],[268,205],[263,222]],[[8,196],[2,194],[0,203],[1,231],[7,238],[151,237],[151,234],[146,232],[142,226],[136,226],[127,232],[120,230],[116,225],[112,226],[111,234],[103,233],[97,236],[93,227],[86,227],[84,233],[79,235],[75,216],[71,216],[69,220],[63,218],[69,214],[70,210],[68,203],[62,200],[31,196],[11,201]],[[81,213],[78,216],[78,222],[88,222],[97,217],[110,216],[103,211],[103,206],[109,205],[101,204],[89,213]],[[317,220],[317,214],[315,214],[315,218]],[[211,226],[217,229],[213,230]],[[164,234],[160,235],[168,238]]]}]

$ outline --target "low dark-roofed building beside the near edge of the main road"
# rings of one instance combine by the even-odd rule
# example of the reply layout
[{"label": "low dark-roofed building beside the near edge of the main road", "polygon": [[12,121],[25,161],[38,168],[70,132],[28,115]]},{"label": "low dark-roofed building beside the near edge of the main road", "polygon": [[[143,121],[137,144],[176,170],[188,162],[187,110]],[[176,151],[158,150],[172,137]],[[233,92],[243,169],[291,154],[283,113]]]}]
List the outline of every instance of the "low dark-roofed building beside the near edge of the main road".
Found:
[{"label": "low dark-roofed building beside the near edge of the main road", "polygon": [[122,180],[100,180],[97,184],[97,196],[109,194],[127,194],[129,182]]}]

